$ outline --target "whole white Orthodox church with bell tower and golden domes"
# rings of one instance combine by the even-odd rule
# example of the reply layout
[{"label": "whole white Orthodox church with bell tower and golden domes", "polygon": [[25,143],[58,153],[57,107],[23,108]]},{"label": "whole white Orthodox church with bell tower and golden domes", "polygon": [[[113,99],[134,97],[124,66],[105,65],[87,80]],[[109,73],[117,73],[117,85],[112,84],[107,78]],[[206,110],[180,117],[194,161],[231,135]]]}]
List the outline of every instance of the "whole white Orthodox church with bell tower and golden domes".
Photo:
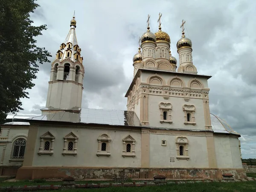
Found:
[{"label": "whole white Orthodox church with bell tower and golden domes", "polygon": [[209,111],[208,79],[192,61],[192,41],[149,27],[133,57],[127,111],[81,108],[84,65],[76,20],[52,62],[41,116],[9,115],[1,125],[1,175],[16,179],[221,179],[246,177],[240,135]]}]

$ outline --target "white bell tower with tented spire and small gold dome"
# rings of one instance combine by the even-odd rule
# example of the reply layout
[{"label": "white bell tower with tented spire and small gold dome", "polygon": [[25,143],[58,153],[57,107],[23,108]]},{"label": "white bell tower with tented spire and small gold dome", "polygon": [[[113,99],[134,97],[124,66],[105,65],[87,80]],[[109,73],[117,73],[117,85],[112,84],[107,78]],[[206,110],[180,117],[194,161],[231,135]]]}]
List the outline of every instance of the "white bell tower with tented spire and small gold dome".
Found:
[{"label": "white bell tower with tented spire and small gold dome", "polygon": [[52,62],[46,108],[42,114],[58,111],[79,111],[81,108],[84,66],[81,49],[76,39],[75,17],[70,31]]}]

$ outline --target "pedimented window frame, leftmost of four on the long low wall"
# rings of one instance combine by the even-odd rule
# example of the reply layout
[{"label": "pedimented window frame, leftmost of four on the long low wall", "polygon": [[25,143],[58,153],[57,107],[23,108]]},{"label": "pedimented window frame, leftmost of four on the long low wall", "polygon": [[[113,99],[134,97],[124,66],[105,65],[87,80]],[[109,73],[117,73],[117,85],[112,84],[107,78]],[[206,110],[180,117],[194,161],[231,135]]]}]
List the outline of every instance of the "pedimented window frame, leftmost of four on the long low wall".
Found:
[{"label": "pedimented window frame, leftmost of four on the long low wall", "polygon": [[[40,140],[40,147],[39,147],[38,155],[46,154],[46,155],[52,156],[55,137],[49,131],[47,131],[45,134],[43,134],[40,137],[40,139],[41,140]],[[44,143],[47,141],[49,141],[49,143],[50,143],[49,150],[44,150]]]}]

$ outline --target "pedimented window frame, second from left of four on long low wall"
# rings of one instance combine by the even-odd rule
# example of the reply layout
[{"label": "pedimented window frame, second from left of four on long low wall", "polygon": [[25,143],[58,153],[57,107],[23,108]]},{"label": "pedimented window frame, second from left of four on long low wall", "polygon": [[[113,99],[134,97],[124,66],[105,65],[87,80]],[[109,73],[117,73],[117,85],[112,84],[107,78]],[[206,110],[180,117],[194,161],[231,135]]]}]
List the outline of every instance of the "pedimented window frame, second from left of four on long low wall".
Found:
[{"label": "pedimented window frame, second from left of four on long low wall", "polygon": [[[63,152],[62,155],[73,155],[76,156],[77,155],[77,140],[78,137],[73,134],[73,132],[70,132],[69,134],[67,134],[64,137],[64,148],[63,148]],[[68,143],[72,142],[73,143],[73,150],[72,151],[68,151]]]}]

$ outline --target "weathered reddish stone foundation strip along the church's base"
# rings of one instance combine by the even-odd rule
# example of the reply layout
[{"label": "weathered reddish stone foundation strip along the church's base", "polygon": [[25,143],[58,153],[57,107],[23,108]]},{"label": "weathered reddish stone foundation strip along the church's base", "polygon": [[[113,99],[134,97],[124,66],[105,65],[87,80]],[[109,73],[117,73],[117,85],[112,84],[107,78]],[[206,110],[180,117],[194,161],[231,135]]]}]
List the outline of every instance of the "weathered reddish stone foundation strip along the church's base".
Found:
[{"label": "weathered reddish stone foundation strip along the church's base", "polygon": [[227,173],[236,179],[246,178],[244,169],[21,167],[18,169],[16,179],[153,179],[156,175],[164,175],[167,179],[222,179],[222,175]]}]

